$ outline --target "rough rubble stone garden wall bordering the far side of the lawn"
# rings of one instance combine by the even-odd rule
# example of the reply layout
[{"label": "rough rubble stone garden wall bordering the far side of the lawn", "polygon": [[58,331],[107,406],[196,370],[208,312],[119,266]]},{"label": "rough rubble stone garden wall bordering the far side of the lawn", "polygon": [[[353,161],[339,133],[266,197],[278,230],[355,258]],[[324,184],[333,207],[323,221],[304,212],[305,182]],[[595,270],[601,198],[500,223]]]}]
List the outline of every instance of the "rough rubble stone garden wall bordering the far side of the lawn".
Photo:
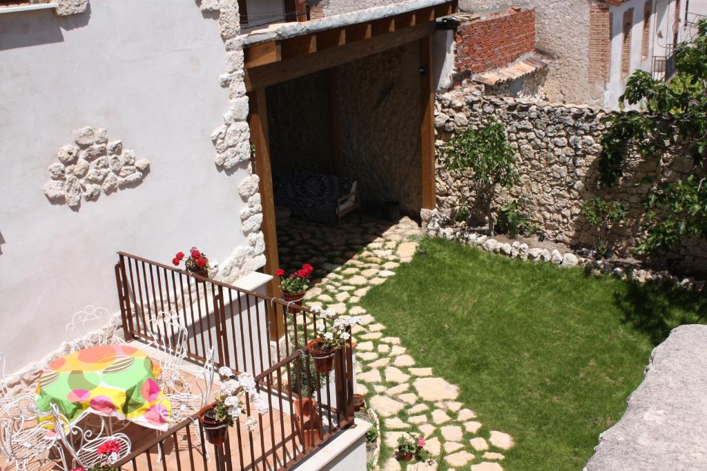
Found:
[{"label": "rough rubble stone garden wall bordering the far side of the lawn", "polygon": [[[497,117],[506,126],[508,141],[517,150],[520,184],[498,196],[498,203],[518,199],[525,212],[540,223],[547,237],[563,244],[590,245],[591,226],[581,215],[585,201],[597,194],[597,157],[605,122],[615,111],[588,106],[552,104],[509,97],[484,97],[478,90],[456,88],[438,96],[435,125],[438,149],[444,141],[467,126],[484,124]],[[439,154],[439,153],[438,153]],[[634,155],[634,157],[637,157]],[[686,175],[691,162],[684,157],[657,160],[629,159],[628,175],[619,189],[602,196],[616,198],[629,205],[629,219],[614,229],[609,239],[619,254],[629,254],[641,235],[644,211],[641,201],[650,189],[637,184],[638,179],[662,174],[668,181]],[[447,213],[469,201],[477,218],[474,191],[463,178],[450,176],[437,166],[438,208]],[[707,268],[707,244],[688,240],[679,251],[670,254],[679,266],[693,270]]]}]

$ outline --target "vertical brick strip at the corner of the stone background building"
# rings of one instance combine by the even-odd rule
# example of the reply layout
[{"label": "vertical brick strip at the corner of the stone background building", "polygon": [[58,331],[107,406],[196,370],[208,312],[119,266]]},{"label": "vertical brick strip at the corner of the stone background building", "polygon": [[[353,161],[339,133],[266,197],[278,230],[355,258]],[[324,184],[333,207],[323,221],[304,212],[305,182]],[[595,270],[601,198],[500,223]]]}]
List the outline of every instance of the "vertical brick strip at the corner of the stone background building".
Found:
[{"label": "vertical brick strip at the corner of the stone background building", "polygon": [[589,81],[607,83],[612,62],[612,16],[608,6],[589,7]]}]

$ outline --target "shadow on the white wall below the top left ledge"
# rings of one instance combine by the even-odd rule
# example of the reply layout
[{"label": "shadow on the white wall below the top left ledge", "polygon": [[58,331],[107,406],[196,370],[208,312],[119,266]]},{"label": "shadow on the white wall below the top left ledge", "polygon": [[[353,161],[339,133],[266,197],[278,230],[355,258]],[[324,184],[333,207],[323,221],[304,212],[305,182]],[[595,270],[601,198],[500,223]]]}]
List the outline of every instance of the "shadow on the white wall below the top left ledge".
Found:
[{"label": "shadow on the white wall below the top left ledge", "polygon": [[84,13],[57,16],[54,8],[0,15],[0,51],[64,42],[62,30],[88,25],[90,4]]}]

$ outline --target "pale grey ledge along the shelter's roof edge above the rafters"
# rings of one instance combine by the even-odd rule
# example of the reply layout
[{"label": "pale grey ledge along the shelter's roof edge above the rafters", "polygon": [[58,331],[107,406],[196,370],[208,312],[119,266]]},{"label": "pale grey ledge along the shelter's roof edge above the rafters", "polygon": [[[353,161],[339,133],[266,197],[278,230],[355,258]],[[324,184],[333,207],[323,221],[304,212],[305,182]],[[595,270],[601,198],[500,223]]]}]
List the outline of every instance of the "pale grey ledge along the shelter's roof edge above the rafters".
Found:
[{"label": "pale grey ledge along the shelter's roof edge above the rafters", "polygon": [[303,23],[276,23],[267,28],[252,30],[243,36],[243,45],[250,46],[259,42],[271,40],[284,40],[288,37],[305,35],[311,32],[329,30],[331,28],[341,28],[343,26],[365,23],[366,21],[378,20],[387,16],[395,16],[401,13],[444,4],[449,0],[408,0],[399,4],[376,6],[366,10],[343,13],[341,15],[326,16],[319,20],[311,20]]}]

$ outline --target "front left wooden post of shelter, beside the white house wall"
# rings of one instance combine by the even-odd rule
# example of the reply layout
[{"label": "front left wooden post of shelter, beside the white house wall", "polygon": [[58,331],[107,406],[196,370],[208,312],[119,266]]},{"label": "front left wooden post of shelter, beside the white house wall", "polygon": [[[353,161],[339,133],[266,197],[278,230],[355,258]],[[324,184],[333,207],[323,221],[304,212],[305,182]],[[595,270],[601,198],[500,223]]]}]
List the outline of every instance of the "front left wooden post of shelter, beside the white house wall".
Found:
[{"label": "front left wooden post of shelter, beside the white house wall", "polygon": [[[275,275],[275,270],[279,268],[279,258],[277,253],[277,232],[275,227],[275,201],[272,193],[272,169],[270,165],[270,139],[267,125],[267,102],[265,100],[265,89],[259,88],[248,94],[250,117],[250,143],[255,148],[255,172],[260,178],[259,191],[260,201],[263,208],[262,230],[265,239],[265,268],[268,275]],[[276,278],[267,287],[268,297],[281,297],[280,286]],[[271,326],[277,323],[277,329],[272,328],[271,334],[275,330],[284,333],[284,319],[276,313],[269,313]],[[271,340],[279,340],[271,338]]]}]

